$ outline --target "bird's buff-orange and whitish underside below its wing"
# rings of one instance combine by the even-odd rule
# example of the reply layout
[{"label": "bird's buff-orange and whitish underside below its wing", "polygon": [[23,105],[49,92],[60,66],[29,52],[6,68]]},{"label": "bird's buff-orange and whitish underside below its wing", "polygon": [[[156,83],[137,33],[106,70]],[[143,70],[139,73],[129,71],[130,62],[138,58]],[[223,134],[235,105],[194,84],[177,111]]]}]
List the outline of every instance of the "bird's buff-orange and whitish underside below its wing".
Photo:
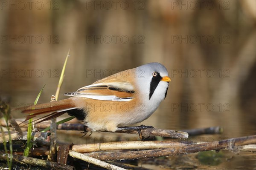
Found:
[{"label": "bird's buff-orange and whitish underside below its wing", "polygon": [[84,123],[93,131],[114,132],[117,127],[139,123],[147,119],[157,107],[134,98],[131,101],[98,101],[87,99]]}]

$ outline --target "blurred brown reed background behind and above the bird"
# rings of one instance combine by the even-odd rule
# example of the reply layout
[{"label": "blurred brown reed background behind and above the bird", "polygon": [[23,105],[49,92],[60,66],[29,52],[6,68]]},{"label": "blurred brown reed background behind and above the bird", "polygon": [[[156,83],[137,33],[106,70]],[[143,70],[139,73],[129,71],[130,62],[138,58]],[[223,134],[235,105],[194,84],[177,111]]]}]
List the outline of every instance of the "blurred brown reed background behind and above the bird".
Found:
[{"label": "blurred brown reed background behind and above the bird", "polygon": [[[19,108],[123,69],[163,63],[172,82],[143,124],[256,133],[256,1],[0,2],[0,95]],[[65,98],[60,96],[60,99]]]}]

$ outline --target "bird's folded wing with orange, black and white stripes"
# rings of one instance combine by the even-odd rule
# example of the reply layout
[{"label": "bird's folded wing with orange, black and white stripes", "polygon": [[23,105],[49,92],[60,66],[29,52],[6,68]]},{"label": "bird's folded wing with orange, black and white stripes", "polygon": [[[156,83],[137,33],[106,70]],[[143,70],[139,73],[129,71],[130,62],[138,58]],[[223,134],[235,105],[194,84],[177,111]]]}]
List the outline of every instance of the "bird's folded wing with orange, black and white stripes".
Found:
[{"label": "bird's folded wing with orange, black and white stripes", "polygon": [[131,101],[134,98],[134,93],[134,87],[127,81],[112,81],[84,86],[76,92],[64,95],[104,101]]}]

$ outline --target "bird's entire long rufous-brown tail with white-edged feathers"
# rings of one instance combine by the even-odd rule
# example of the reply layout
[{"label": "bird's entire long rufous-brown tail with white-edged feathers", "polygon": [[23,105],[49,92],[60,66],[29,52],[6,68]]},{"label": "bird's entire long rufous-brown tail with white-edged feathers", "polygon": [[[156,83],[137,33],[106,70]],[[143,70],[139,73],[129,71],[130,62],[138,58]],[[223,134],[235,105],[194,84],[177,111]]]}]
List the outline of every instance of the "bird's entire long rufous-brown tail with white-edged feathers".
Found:
[{"label": "bird's entire long rufous-brown tail with white-edged feathers", "polygon": [[[22,112],[28,114],[26,116],[26,120],[30,118],[34,118],[41,114],[47,114],[44,117],[41,117],[39,122],[47,121],[52,118],[57,118],[60,115],[63,115],[68,110],[76,109],[76,106],[71,98],[60,100],[60,101],[53,101],[44,104],[36,104],[29,107],[26,107]],[[37,120],[39,120],[37,119]]]}]

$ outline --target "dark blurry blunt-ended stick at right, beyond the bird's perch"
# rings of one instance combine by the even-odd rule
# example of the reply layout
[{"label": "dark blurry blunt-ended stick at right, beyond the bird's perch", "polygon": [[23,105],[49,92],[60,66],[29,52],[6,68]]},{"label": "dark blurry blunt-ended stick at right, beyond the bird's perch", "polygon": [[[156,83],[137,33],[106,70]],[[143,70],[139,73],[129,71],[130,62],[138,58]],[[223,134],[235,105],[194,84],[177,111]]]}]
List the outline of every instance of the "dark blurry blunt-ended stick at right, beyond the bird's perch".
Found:
[{"label": "dark blurry blunt-ended stick at right, beyond the bird's perch", "polygon": [[203,134],[220,134],[223,132],[223,127],[208,127],[200,129],[182,130],[189,134],[189,136],[203,135]]}]

